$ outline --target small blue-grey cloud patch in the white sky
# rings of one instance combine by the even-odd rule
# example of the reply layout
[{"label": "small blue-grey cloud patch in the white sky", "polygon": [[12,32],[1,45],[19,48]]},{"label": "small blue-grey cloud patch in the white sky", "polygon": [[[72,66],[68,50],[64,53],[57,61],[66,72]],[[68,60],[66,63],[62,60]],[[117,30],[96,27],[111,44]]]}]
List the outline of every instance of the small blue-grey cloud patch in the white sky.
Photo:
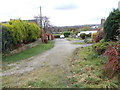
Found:
[{"label": "small blue-grey cloud patch in the white sky", "polygon": [[76,9],[78,8],[75,4],[63,4],[63,5],[58,5],[54,9],[56,10],[70,10],[70,9]]}]

